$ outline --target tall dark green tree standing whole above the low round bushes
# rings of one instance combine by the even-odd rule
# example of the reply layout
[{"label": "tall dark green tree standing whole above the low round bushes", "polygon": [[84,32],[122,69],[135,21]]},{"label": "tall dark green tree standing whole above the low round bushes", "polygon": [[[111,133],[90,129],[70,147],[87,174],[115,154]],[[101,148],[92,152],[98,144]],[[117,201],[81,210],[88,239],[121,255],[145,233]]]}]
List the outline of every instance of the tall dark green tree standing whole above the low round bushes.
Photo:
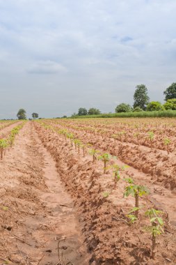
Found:
[{"label": "tall dark green tree standing whole above the low round bushes", "polygon": [[147,96],[147,87],[145,84],[138,84],[134,92],[134,108],[141,107],[141,109],[145,110],[149,100],[150,98]]}]

